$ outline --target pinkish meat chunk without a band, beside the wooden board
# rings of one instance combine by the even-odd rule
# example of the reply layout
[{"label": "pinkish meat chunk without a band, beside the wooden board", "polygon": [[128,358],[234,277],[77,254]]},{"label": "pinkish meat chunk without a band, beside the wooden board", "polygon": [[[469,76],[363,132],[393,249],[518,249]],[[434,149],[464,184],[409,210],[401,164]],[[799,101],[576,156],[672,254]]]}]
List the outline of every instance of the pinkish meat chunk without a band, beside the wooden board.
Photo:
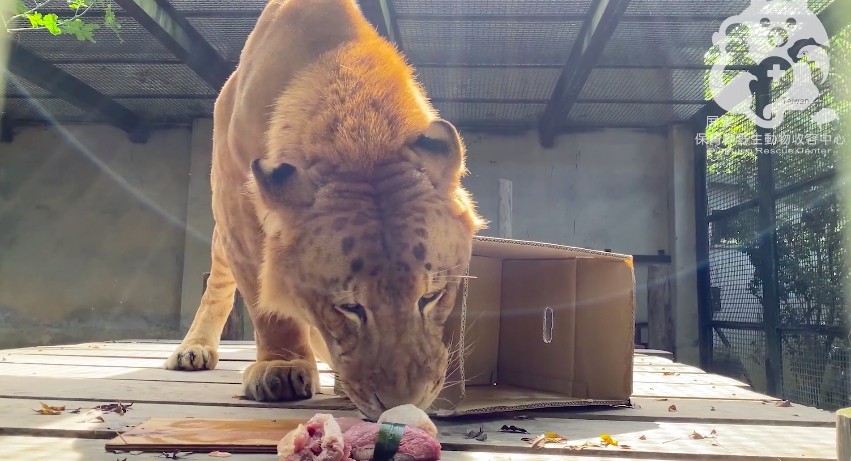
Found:
[{"label": "pinkish meat chunk without a band, beside the wooden board", "polygon": [[317,413],[278,442],[279,461],[351,461],[351,448],[334,417]]}]

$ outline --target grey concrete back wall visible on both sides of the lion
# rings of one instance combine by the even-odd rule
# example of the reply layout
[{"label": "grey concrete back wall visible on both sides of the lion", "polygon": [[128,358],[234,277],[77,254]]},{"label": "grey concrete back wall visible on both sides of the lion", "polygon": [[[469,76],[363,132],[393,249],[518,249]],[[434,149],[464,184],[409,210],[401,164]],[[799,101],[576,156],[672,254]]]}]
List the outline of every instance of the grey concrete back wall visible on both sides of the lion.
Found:
[{"label": "grey concrete back wall visible on both sides of the lion", "polygon": [[[151,203],[101,174],[56,130],[26,130],[13,144],[0,145],[0,242],[9,248],[0,255],[0,328],[38,332],[5,341],[180,337],[210,264],[212,124],[199,120],[191,130],[158,132],[147,145],[129,144],[105,127],[71,133],[85,145],[82,151]],[[674,191],[680,204],[693,204],[694,197],[688,183],[670,184],[674,148],[665,134],[564,135],[554,149],[541,148],[532,132],[465,132],[464,138],[471,171],[464,183],[491,221],[485,235],[498,232],[500,179],[513,185],[513,238],[672,254],[672,229],[693,235],[687,210],[679,212],[685,227],[671,224],[678,215]],[[685,174],[682,168],[687,165],[678,174]],[[106,249],[99,249],[101,242]],[[641,322],[647,319],[646,267],[636,266],[636,278]],[[696,315],[688,299],[678,298],[677,306],[687,317]],[[697,331],[680,333],[696,339]],[[693,343],[678,340],[678,347]]]}]

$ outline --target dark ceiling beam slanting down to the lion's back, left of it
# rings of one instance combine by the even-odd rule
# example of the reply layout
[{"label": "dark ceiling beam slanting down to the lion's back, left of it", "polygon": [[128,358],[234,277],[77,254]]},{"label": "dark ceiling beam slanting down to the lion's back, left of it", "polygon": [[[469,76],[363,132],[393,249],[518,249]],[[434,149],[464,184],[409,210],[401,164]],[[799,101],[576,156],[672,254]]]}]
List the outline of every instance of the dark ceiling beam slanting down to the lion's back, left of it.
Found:
[{"label": "dark ceiling beam slanting down to the lion's back, left of it", "polygon": [[233,72],[233,66],[210,46],[204,37],[168,0],[115,0],[139,25],[218,92]]}]

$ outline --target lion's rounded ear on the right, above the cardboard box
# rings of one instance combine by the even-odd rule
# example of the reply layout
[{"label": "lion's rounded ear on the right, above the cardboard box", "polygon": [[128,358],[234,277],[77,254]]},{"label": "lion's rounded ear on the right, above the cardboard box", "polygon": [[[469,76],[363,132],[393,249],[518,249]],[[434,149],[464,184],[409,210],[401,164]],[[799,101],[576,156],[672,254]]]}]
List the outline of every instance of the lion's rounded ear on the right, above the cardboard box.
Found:
[{"label": "lion's rounded ear on the right, above the cardboard box", "polygon": [[457,185],[463,167],[464,145],[454,125],[437,119],[408,147],[423,160],[426,172],[438,190],[449,193]]}]

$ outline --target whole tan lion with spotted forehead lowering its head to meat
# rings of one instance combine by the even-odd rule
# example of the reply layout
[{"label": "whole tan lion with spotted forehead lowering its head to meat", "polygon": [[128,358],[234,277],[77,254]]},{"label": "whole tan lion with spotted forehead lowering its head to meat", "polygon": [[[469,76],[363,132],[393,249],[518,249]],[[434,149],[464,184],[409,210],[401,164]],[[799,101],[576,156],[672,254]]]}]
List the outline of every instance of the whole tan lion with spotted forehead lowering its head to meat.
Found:
[{"label": "whole tan lion with spotted forehead lowering its head to meat", "polygon": [[242,294],[256,361],[246,398],[319,392],[316,360],[375,420],[427,409],[473,236],[459,131],[354,0],[272,0],[213,112],[207,287],[164,364],[214,369]]}]

